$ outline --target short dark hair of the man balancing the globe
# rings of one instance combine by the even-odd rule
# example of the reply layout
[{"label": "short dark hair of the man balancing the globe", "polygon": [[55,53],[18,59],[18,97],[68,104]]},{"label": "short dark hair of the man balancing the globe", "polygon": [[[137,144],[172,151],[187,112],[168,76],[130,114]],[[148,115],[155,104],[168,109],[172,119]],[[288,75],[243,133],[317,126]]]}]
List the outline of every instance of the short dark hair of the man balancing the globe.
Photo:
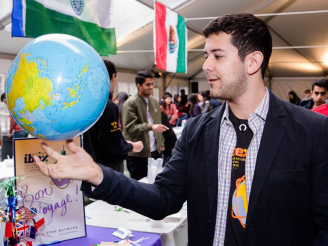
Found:
[{"label": "short dark hair of the man balancing the globe", "polygon": [[206,38],[224,32],[231,34],[230,43],[238,49],[240,60],[246,55],[260,51],[263,54],[262,77],[268,67],[272,53],[272,37],[265,23],[252,14],[230,14],[210,22],[203,30]]}]

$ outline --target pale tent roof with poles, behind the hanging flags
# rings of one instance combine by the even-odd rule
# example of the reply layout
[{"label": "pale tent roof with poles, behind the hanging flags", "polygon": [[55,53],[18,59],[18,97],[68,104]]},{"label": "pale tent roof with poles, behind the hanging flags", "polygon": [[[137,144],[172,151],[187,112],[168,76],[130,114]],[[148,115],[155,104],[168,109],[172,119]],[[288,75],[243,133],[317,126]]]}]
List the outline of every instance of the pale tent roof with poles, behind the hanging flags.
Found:
[{"label": "pale tent roof with poles, behind the hanging flags", "polygon": [[[135,5],[127,4],[130,1]],[[31,40],[12,38],[11,33],[5,30],[10,27],[11,2],[4,0],[1,4],[0,30],[3,26],[7,27],[0,31],[0,57],[1,55],[16,55]],[[125,4],[117,5],[118,2]],[[326,0],[171,0],[163,2],[167,2],[185,18],[215,17],[237,12],[267,14],[328,10]],[[114,4],[116,6],[114,16],[118,13],[115,17],[118,51],[144,50],[145,52],[118,53],[105,59],[112,60],[121,69],[134,71],[153,69],[154,54],[150,52],[153,50],[153,14],[149,14],[153,13],[153,1],[114,0]],[[134,12],[137,13],[137,17],[131,16]],[[325,18],[327,16],[328,13],[313,13],[260,17],[271,31],[273,47],[303,46],[292,49],[274,49],[267,71],[270,76],[320,77],[328,74],[326,41],[328,40],[328,18]],[[187,21],[188,49],[203,49],[205,38],[202,36],[202,29],[209,21]],[[177,76],[194,80],[204,79],[204,73],[201,71],[203,62],[202,51],[189,51],[188,73]]]}]

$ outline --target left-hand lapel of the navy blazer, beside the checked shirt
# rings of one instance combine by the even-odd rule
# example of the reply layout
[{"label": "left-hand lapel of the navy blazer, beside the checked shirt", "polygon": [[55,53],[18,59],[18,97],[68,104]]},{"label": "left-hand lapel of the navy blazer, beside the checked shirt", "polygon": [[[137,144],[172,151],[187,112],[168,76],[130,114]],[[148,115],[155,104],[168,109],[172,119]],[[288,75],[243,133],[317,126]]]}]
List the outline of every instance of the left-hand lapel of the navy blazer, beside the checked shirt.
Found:
[{"label": "left-hand lapel of the navy blazer, beside the checked shirt", "polygon": [[[215,110],[205,126],[205,154],[208,183],[208,202],[211,225],[215,222],[218,198],[218,151],[220,138],[220,122],[225,104]],[[214,223],[215,225],[215,223]],[[214,229],[214,228],[213,228]]]}]

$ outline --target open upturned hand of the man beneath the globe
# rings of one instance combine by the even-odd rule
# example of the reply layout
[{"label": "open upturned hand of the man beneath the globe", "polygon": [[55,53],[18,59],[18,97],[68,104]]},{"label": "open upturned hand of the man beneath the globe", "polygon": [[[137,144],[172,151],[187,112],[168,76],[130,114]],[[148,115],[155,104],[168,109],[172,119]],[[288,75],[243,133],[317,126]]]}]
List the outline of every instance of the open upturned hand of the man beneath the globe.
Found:
[{"label": "open upturned hand of the man beneath the globe", "polygon": [[39,157],[34,156],[36,164],[44,175],[54,179],[71,178],[87,181],[93,186],[98,186],[102,182],[101,168],[84,149],[76,146],[73,140],[67,140],[67,147],[73,153],[67,156],[54,151],[46,142],[42,142],[42,147],[51,158],[57,160],[54,164],[46,164]]}]

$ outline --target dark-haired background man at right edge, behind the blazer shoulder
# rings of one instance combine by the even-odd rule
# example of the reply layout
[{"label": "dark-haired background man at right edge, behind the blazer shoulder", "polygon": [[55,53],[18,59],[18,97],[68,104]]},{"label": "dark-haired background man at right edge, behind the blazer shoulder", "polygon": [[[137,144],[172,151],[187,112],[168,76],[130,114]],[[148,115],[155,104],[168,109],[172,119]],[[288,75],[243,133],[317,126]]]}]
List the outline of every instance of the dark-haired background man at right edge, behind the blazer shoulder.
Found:
[{"label": "dark-haired background man at right edge, behind the blazer shoulder", "polygon": [[314,109],[324,103],[328,99],[328,80],[319,79],[312,84],[312,96],[308,100],[302,100],[301,107]]}]

